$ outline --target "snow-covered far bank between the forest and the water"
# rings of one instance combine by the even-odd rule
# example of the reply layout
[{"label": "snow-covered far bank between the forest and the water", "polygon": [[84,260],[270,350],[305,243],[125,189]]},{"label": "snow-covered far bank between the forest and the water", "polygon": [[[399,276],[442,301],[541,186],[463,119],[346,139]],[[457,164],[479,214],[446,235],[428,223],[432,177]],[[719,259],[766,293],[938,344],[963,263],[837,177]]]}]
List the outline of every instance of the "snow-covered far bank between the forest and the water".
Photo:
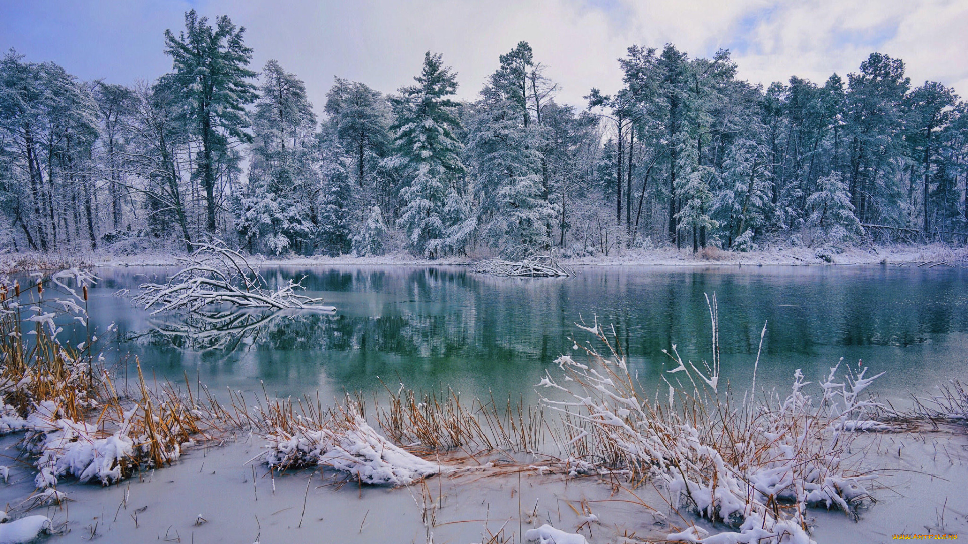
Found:
[{"label": "snow-covered far bank between the forest and the water", "polygon": [[[146,252],[132,256],[94,254],[6,254],[0,256],[0,273],[29,272],[70,266],[172,266],[178,254]],[[484,257],[445,257],[426,259],[406,251],[380,257],[257,257],[264,266],[469,266]],[[632,249],[605,256],[560,258],[568,266],[806,266],[911,263],[964,266],[968,249],[953,249],[941,244],[923,246],[873,246],[868,248],[784,248],[749,253],[707,251],[693,255],[690,250],[671,248]],[[946,268],[947,268],[946,267]]]}]

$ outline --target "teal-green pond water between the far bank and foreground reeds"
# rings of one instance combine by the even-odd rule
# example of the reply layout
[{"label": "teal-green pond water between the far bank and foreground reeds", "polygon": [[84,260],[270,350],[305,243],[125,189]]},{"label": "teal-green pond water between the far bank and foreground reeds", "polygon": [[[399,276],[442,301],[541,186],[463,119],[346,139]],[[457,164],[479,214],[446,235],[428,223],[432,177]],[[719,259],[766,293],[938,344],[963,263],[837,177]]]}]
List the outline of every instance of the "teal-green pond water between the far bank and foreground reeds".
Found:
[{"label": "teal-green pond water between the far bank and foreground reeds", "polygon": [[[590,340],[581,319],[614,325],[629,364],[649,386],[673,368],[677,344],[710,359],[706,295],[719,303],[722,375],[750,384],[767,323],[759,385],[785,392],[796,369],[817,380],[832,364],[868,376],[892,402],[965,377],[968,271],[896,266],[583,267],[567,279],[508,279],[459,267],[274,267],[272,281],[303,278],[338,308],[318,313],[157,316],[132,306],[136,290],[175,269],[100,268],[92,324],[119,333],[108,355],[137,355],[159,378],[211,388],[293,395],[453,387],[464,396],[534,395],[552,361]],[[700,366],[700,368],[702,368]]]}]

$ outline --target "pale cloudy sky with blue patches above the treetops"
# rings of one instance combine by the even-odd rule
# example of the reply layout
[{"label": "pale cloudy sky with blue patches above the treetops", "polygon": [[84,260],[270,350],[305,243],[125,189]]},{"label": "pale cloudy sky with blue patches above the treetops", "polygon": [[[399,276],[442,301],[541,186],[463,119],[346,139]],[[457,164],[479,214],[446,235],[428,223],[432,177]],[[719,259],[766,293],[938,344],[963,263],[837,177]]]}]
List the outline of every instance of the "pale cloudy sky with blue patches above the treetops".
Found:
[{"label": "pale cloudy sky with blue patches above the treetops", "polygon": [[334,75],[382,91],[408,84],[428,49],[472,99],[521,40],[574,105],[590,87],[620,86],[628,45],[666,43],[690,56],[728,48],[740,76],[763,83],[846,75],[876,50],[903,59],[915,84],[968,95],[968,0],[0,0],[0,47],[85,79],[150,80],[171,68],[165,29],[192,8],[245,26],[256,69],[278,60],[317,106]]}]

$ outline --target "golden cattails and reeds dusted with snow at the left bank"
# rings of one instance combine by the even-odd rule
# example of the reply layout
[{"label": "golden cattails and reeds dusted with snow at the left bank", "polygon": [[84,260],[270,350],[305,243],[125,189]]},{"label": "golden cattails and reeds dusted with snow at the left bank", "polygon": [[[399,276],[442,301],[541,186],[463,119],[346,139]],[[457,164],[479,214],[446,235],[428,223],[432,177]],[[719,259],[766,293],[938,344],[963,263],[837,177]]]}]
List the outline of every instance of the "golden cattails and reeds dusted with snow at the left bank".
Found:
[{"label": "golden cattails and reeds dusted with snow at the left bank", "polygon": [[[87,328],[94,281],[69,270],[26,288],[0,282],[0,434],[24,434],[20,447],[37,469],[36,503],[64,499],[59,478],[107,485],[139,467],[164,466],[211,428],[202,416],[213,410],[197,409],[170,384],[149,389],[140,367],[137,394],[118,395],[99,368],[96,331]],[[58,340],[72,326],[87,331],[77,346]]]}]

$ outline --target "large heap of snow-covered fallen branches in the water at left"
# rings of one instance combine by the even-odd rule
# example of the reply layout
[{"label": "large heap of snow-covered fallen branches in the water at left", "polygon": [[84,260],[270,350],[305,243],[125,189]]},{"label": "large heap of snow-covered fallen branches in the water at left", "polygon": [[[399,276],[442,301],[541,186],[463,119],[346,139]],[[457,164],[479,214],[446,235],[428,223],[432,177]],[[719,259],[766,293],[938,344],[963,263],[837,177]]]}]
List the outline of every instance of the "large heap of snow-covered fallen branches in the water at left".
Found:
[{"label": "large heap of snow-covered fallen branches in the water at left", "polygon": [[165,284],[141,284],[134,301],[151,315],[171,310],[197,312],[209,304],[231,304],[239,308],[276,310],[319,310],[335,312],[323,306],[321,298],[296,294],[301,282],[287,280],[275,290],[241,253],[230,250],[226,243],[193,244],[196,251],[189,257],[178,257],[185,265]]}]

